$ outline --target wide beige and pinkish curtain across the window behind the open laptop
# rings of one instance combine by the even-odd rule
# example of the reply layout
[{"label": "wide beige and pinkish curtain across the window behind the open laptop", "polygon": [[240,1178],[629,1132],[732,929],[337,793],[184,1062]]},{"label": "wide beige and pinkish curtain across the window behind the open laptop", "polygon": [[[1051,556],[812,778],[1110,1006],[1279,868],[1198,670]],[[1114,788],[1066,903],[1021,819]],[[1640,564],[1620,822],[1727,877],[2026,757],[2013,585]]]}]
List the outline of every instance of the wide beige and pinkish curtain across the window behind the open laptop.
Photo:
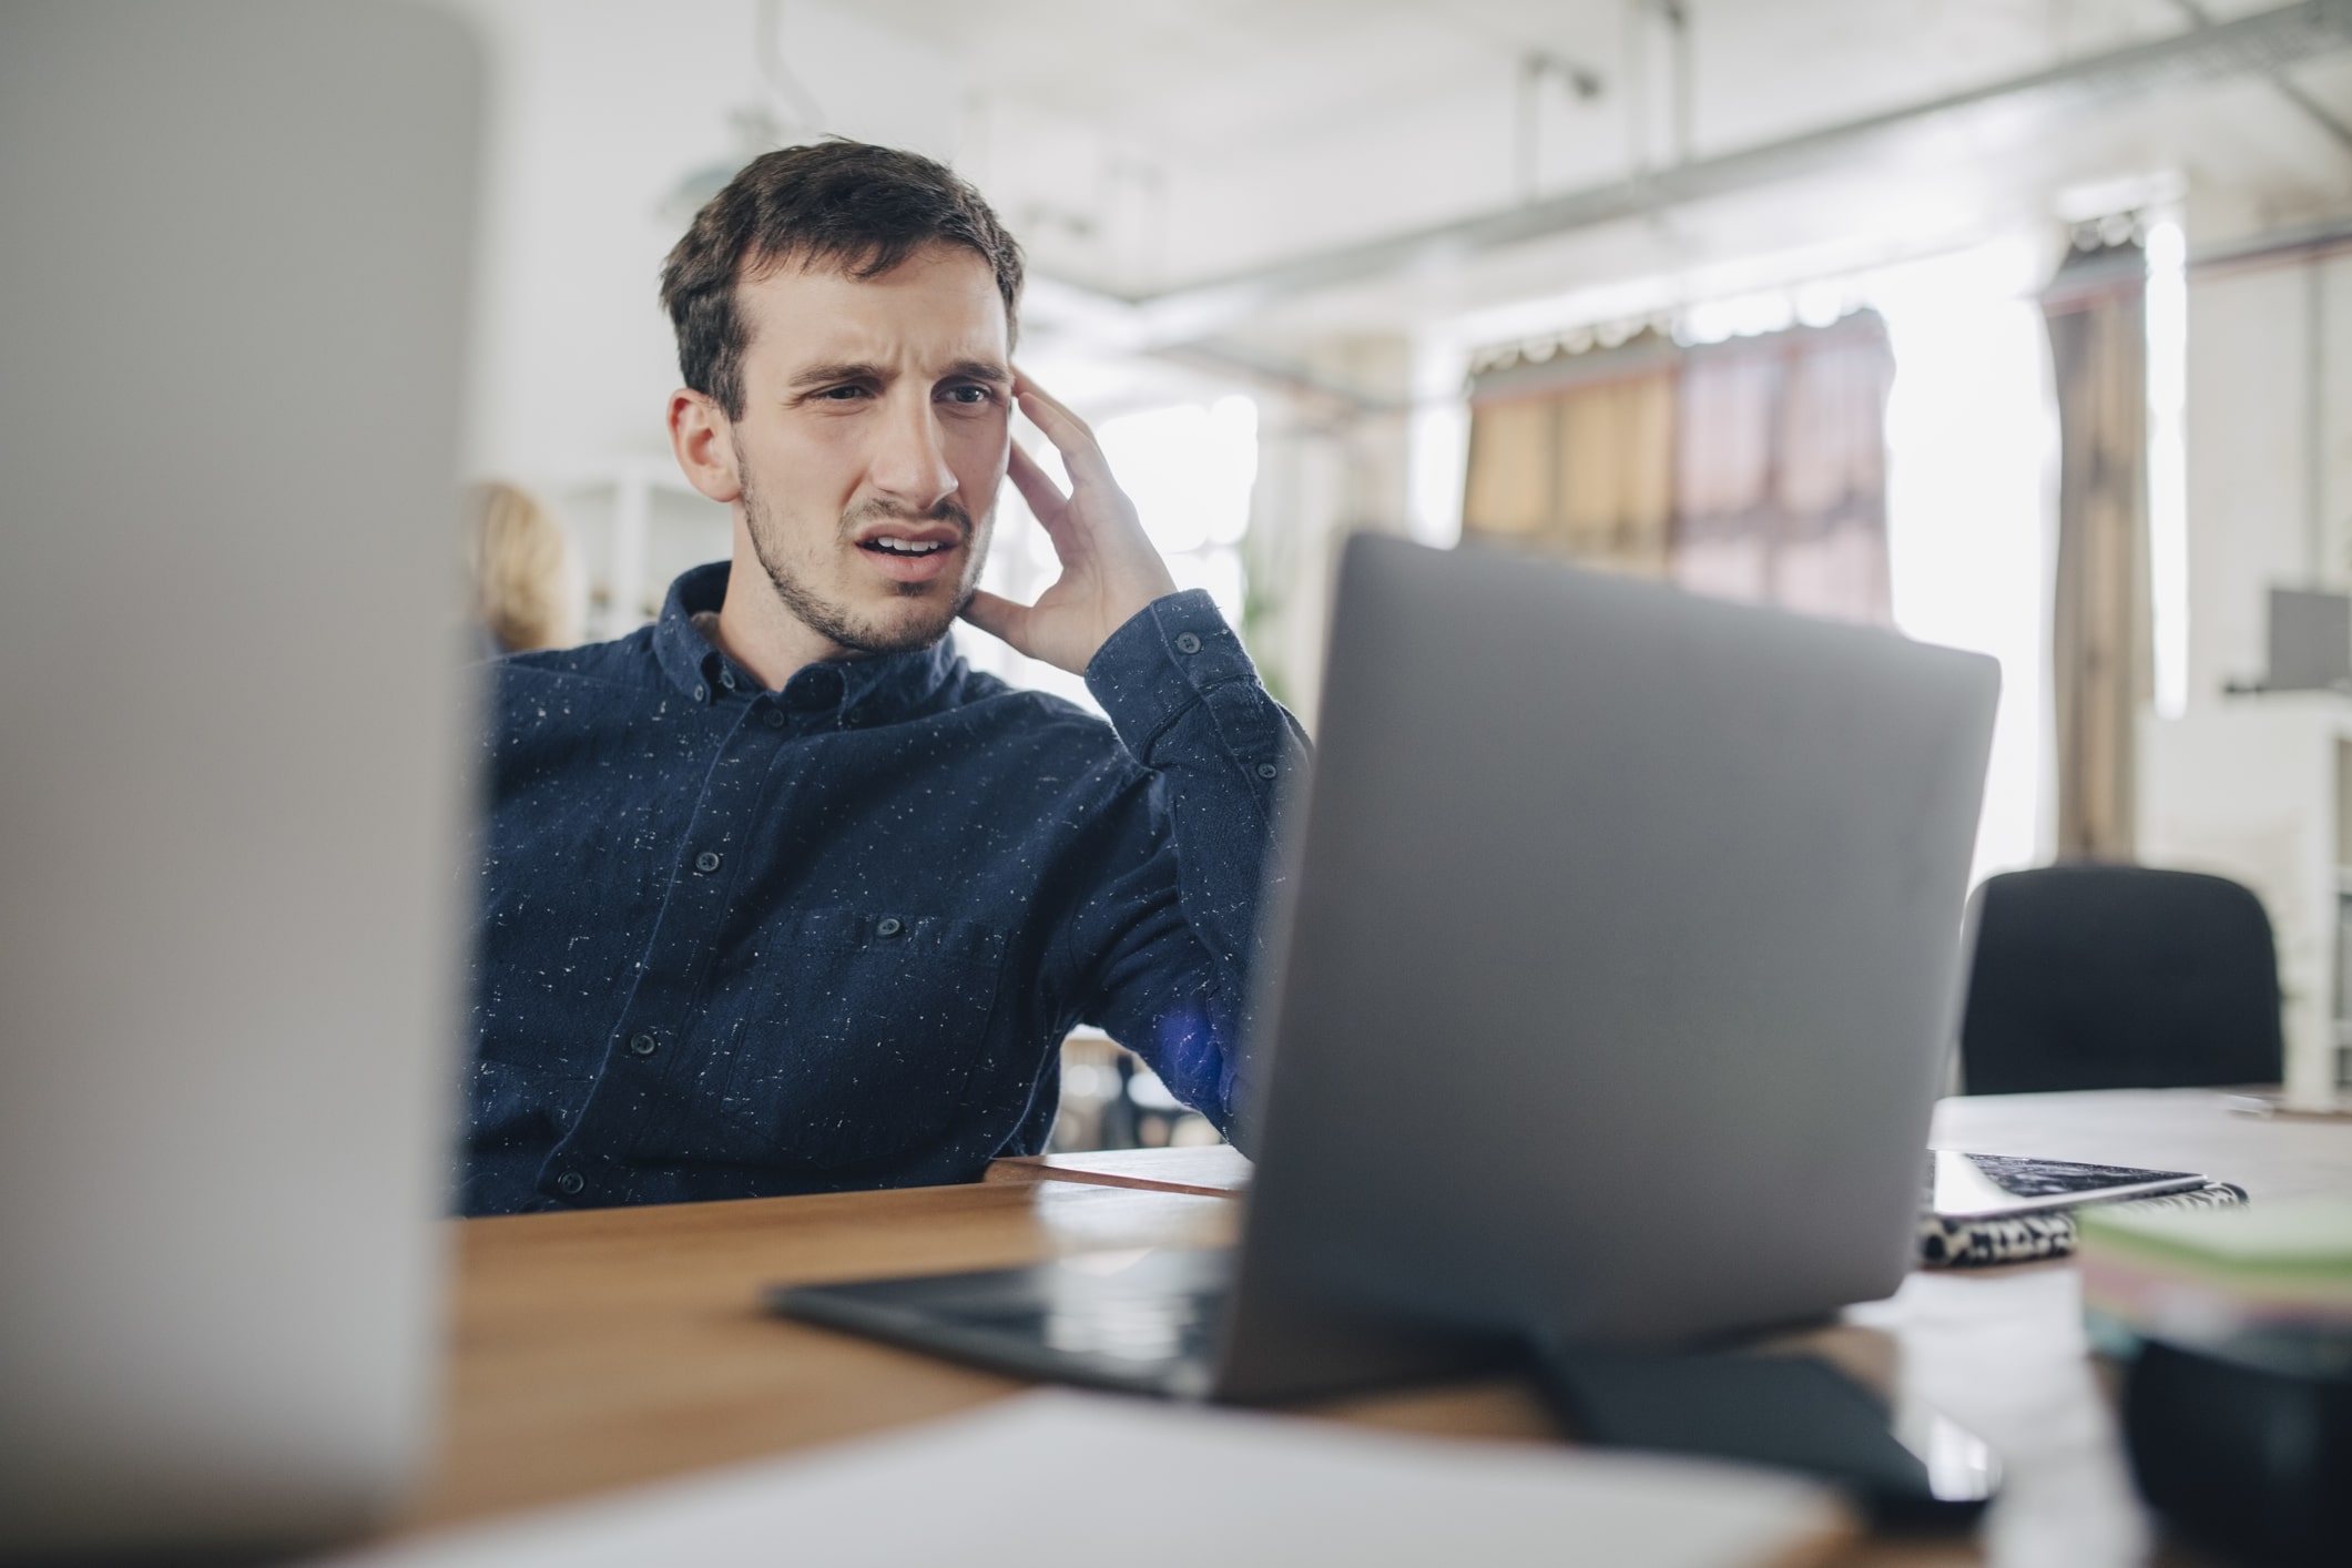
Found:
[{"label": "wide beige and pinkish curtain across the window behind the open laptop", "polygon": [[1472,388],[1463,534],[1886,623],[1891,381],[1875,313],[1505,367]]}]

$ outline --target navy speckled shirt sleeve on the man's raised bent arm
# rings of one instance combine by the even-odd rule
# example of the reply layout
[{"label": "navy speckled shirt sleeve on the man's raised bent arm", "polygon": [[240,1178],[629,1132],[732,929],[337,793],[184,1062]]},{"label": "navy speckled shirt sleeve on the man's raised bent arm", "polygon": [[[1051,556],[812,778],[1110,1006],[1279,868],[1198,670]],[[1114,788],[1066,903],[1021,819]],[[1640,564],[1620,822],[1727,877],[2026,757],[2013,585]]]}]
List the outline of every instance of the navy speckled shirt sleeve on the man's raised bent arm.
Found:
[{"label": "navy speckled shirt sleeve on the man's raised bent arm", "polygon": [[1150,851],[1094,903],[1110,929],[1087,1018],[1230,1133],[1275,811],[1303,780],[1305,731],[1202,590],[1155,599],[1112,632],[1087,686],[1150,773],[1152,818]]}]

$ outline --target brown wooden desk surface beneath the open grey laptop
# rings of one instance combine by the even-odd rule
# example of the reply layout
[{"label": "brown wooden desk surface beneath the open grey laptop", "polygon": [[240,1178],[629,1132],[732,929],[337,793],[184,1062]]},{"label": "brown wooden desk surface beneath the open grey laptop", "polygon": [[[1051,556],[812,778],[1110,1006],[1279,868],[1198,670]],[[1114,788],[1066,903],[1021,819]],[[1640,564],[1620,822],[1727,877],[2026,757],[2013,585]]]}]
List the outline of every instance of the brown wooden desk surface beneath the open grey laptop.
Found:
[{"label": "brown wooden desk surface beneath the open grey laptop", "polygon": [[[2209,1091],[1950,1100],[1936,1140],[2197,1168],[2263,1197],[2352,1190],[2352,1124],[2260,1121]],[[412,1523],[447,1523],[948,1415],[1016,1387],[767,1316],[774,1281],[1211,1246],[1237,1206],[1230,1150],[1000,1161],[971,1187],[607,1208],[456,1222],[447,1429]],[[2138,1561],[2143,1523],[2084,1356],[2074,1269],[1915,1274],[1830,1333],[1849,1363],[1973,1427],[2009,1462],[1992,1523],[2020,1561]],[[1875,1333],[1872,1333],[1875,1331]],[[1877,1349],[1872,1349],[1877,1345]],[[1343,1420],[1552,1441],[1512,1380],[1350,1399]],[[1851,1561],[1976,1561],[1875,1542]]]}]

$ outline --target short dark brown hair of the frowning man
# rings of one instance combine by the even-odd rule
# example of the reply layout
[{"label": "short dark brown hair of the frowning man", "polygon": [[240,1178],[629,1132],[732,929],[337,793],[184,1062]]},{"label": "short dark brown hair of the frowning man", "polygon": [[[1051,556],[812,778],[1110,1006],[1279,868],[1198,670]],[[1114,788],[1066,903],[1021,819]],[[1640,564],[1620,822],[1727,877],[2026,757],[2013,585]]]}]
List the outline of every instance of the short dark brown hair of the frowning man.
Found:
[{"label": "short dark brown hair of the frowning man", "polygon": [[927,244],[960,244],[997,275],[1004,324],[1021,310],[1021,244],[971,181],[922,153],[818,141],[753,158],[710,197],[661,263],[661,303],[677,329],[677,374],[743,414],[743,315],[736,282],[781,261],[880,277]]}]

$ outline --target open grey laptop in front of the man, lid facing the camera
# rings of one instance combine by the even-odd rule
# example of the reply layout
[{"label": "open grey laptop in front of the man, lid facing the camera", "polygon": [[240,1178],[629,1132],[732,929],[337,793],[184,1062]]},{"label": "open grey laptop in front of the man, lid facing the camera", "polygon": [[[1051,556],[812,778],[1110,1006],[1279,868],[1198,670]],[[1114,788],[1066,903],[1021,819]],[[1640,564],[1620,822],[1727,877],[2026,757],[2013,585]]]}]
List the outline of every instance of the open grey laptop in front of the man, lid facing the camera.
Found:
[{"label": "open grey laptop in front of the man, lid facing the camera", "polygon": [[1277,1401],[1891,1293],[1997,686],[1889,632],[1350,541],[1240,1248],[774,1305]]}]

